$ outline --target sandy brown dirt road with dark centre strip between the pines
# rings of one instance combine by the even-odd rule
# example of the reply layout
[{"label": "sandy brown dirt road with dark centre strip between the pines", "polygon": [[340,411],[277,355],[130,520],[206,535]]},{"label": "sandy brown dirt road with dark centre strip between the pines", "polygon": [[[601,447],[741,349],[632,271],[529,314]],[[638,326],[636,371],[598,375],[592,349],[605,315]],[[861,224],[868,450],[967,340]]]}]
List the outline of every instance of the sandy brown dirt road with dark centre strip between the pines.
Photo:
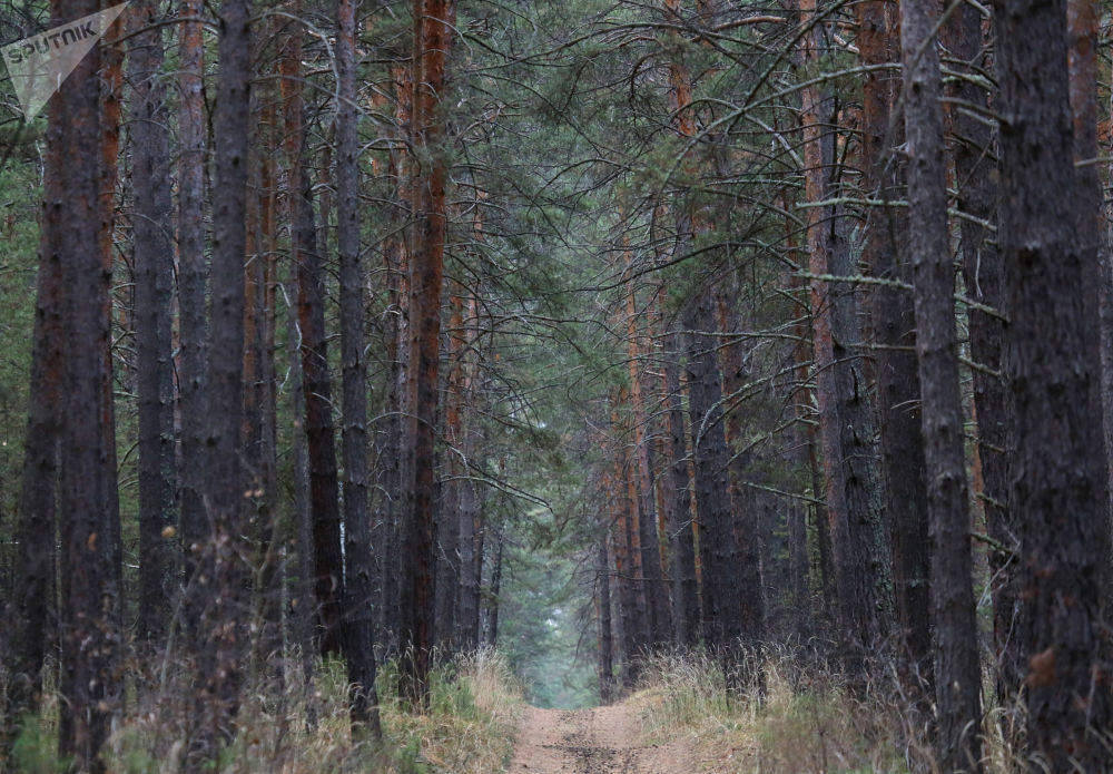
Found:
[{"label": "sandy brown dirt road with dark centre strip between the pines", "polygon": [[683,743],[646,746],[637,711],[530,707],[509,774],[691,774]]}]

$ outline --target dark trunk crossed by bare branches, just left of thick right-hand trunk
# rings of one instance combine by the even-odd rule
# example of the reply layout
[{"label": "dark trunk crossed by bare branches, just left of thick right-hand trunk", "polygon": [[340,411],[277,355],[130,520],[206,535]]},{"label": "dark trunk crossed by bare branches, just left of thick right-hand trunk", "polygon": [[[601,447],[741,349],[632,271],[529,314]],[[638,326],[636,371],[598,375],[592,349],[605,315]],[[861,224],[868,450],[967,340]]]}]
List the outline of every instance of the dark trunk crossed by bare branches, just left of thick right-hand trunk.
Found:
[{"label": "dark trunk crossed by bare branches, just left of thick right-hand trunk", "polygon": [[[973,75],[987,66],[983,42],[982,13],[962,6],[944,27],[945,43],[955,57],[967,63]],[[969,79],[954,79],[951,94],[975,107],[988,107],[988,92]],[[1015,648],[1009,647],[1015,624],[1016,594],[1012,585],[1016,549],[1015,525],[1009,518],[1008,458],[1012,409],[1002,373],[1005,342],[1002,264],[997,241],[981,223],[997,216],[997,175],[993,129],[969,110],[951,114],[954,134],[953,157],[958,188],[958,208],[974,219],[963,218],[962,270],[966,295],[982,307],[971,306],[969,347],[975,363],[974,408],[977,414],[977,459],[983,491],[979,492],[986,532],[994,541],[988,550],[991,594],[993,597],[993,644],[997,659],[997,697],[1011,706],[1023,679]],[[997,314],[988,310],[998,310]],[[988,372],[987,372],[988,371]]]}]

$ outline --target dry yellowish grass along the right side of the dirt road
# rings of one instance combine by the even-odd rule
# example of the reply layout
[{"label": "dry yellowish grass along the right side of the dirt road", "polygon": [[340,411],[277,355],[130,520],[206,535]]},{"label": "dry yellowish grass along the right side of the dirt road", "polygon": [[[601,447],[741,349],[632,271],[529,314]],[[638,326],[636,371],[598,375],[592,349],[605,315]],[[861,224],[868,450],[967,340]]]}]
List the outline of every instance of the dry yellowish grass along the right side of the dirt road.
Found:
[{"label": "dry yellowish grass along the right side of the dirt road", "polygon": [[[702,772],[731,774],[940,773],[924,724],[899,690],[881,680],[866,699],[850,696],[826,665],[787,649],[767,654],[765,693],[749,685],[727,698],[719,663],[705,654],[650,659],[641,689],[649,741],[691,741]],[[1015,717],[987,723],[986,772],[1025,771],[1016,748]]]}]

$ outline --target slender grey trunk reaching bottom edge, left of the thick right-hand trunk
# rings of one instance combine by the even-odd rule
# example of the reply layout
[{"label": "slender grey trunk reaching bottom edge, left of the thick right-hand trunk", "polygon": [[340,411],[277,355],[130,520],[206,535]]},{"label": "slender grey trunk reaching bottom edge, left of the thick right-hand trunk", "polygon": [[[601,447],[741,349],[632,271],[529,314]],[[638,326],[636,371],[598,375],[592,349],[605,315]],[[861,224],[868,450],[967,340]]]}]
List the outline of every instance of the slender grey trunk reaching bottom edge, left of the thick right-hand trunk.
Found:
[{"label": "slender grey trunk reaching bottom edge, left of the thick right-hand trunk", "polygon": [[935,42],[938,17],[930,3],[900,6],[900,47],[908,84],[906,255],[915,276],[924,474],[932,532],[935,763],[948,772],[981,772],[982,670],[971,577],[955,274],[947,233],[947,173],[939,109],[943,88]]}]

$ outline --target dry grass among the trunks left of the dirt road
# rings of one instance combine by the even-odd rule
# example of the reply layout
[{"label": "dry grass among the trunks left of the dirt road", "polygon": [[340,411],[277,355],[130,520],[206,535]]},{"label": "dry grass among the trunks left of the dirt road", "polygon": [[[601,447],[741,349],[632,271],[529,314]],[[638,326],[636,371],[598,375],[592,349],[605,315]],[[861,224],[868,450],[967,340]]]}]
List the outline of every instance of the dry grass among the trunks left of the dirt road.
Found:
[{"label": "dry grass among the trunks left of the dirt road", "polygon": [[[177,670],[170,670],[177,672]],[[184,718],[191,694],[183,677],[140,675],[130,680],[128,713],[115,729],[107,758],[114,774],[178,774]],[[491,774],[513,752],[522,690],[505,660],[482,650],[443,664],[432,676],[432,700],[424,715],[411,715],[393,697],[396,673],[380,670],[384,732],[382,746],[353,739],[343,664],[318,664],[309,690],[292,675],[256,680],[242,706],[239,733],[224,751],[219,774]],[[284,686],[284,687],[283,687]],[[55,707],[29,723],[16,751],[16,770],[28,774],[65,771],[56,754]]]}]

